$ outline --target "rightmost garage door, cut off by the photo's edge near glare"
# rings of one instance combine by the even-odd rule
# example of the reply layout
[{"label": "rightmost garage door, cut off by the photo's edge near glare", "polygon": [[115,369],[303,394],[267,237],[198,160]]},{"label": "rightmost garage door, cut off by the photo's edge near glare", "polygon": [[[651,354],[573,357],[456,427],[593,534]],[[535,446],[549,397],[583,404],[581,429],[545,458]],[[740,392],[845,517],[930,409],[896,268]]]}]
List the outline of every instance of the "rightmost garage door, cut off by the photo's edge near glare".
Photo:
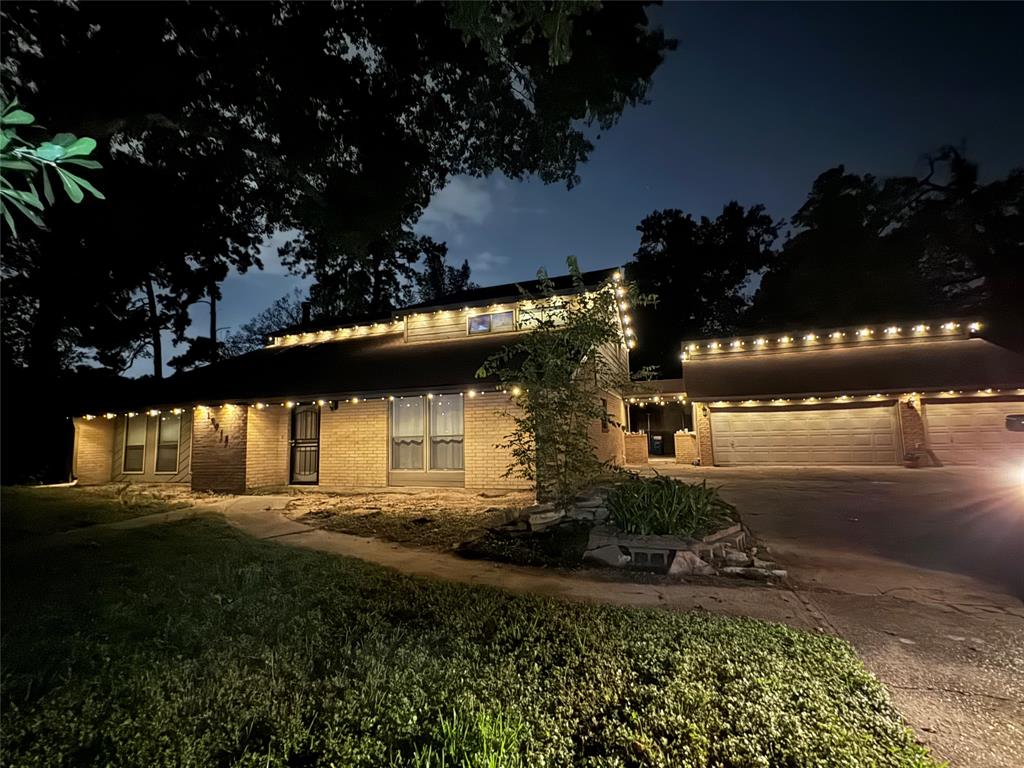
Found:
[{"label": "rightmost garage door, cut off by the photo's edge near glare", "polygon": [[1024,401],[926,402],[929,447],[945,464],[1024,458],[1024,432],[1007,429],[1009,414],[1024,414]]}]

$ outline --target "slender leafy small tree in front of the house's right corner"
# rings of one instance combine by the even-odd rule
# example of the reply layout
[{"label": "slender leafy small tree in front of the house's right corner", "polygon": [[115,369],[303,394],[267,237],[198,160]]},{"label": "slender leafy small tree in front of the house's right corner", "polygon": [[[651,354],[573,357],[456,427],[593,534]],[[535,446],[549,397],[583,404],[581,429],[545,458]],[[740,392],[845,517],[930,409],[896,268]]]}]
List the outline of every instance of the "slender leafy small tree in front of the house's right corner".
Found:
[{"label": "slender leafy small tree in front of the house's right corner", "polygon": [[559,506],[612,469],[598,459],[588,430],[602,420],[622,427],[601,398],[631,381],[620,309],[647,301],[618,282],[588,291],[574,258],[568,268],[567,295],[538,272],[537,295],[524,291],[520,304],[528,332],[477,372],[497,376],[518,406],[515,427],[499,445],[512,454],[505,476],[529,480],[539,499]]}]

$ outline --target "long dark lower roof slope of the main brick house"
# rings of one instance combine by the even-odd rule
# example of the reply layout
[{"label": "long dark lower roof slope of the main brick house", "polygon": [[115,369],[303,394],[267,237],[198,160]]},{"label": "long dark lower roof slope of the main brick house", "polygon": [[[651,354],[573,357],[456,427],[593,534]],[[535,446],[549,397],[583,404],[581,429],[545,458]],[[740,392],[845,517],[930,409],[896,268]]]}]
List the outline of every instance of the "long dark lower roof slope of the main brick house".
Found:
[{"label": "long dark lower roof slope of the main brick house", "polygon": [[[415,391],[459,391],[494,386],[476,372],[519,333],[443,344],[409,344],[395,334],[323,344],[266,347],[151,382],[126,399],[90,398],[89,413],[184,404],[220,404],[342,396],[386,396]],[[143,401],[144,399],[144,401]]]}]

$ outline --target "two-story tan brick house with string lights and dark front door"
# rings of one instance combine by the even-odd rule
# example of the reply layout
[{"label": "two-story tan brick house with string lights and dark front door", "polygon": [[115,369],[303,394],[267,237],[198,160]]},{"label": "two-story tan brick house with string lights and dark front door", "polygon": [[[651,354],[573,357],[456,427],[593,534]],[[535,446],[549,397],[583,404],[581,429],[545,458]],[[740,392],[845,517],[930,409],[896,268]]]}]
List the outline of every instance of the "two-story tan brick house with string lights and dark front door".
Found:
[{"label": "two-story tan brick house with string lights and dark front door", "polygon": [[[616,290],[621,274],[583,280],[588,290]],[[568,276],[553,283],[556,296],[572,292]],[[534,303],[503,285],[359,325],[306,324],[133,399],[93,400],[74,419],[75,476],[83,484],[176,482],[225,493],[525,487],[505,477],[510,455],[499,447],[512,431],[513,392],[476,372],[524,332]],[[623,333],[614,351],[628,366],[632,331],[615,311]],[[621,395],[603,394],[610,421],[625,421]],[[591,435],[599,458],[622,464],[623,430],[608,421]]]}]

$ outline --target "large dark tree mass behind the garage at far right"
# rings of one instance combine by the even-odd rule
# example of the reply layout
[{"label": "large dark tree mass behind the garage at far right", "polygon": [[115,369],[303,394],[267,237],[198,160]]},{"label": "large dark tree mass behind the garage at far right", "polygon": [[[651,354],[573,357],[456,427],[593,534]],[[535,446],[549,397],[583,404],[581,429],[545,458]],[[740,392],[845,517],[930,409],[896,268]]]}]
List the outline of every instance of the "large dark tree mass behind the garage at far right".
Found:
[{"label": "large dark tree mass behind the garage at far right", "polygon": [[818,176],[748,322],[822,327],[979,313],[1019,344],[1024,172],[981,184],[953,147],[927,160],[921,178],[880,180],[843,166]]}]

